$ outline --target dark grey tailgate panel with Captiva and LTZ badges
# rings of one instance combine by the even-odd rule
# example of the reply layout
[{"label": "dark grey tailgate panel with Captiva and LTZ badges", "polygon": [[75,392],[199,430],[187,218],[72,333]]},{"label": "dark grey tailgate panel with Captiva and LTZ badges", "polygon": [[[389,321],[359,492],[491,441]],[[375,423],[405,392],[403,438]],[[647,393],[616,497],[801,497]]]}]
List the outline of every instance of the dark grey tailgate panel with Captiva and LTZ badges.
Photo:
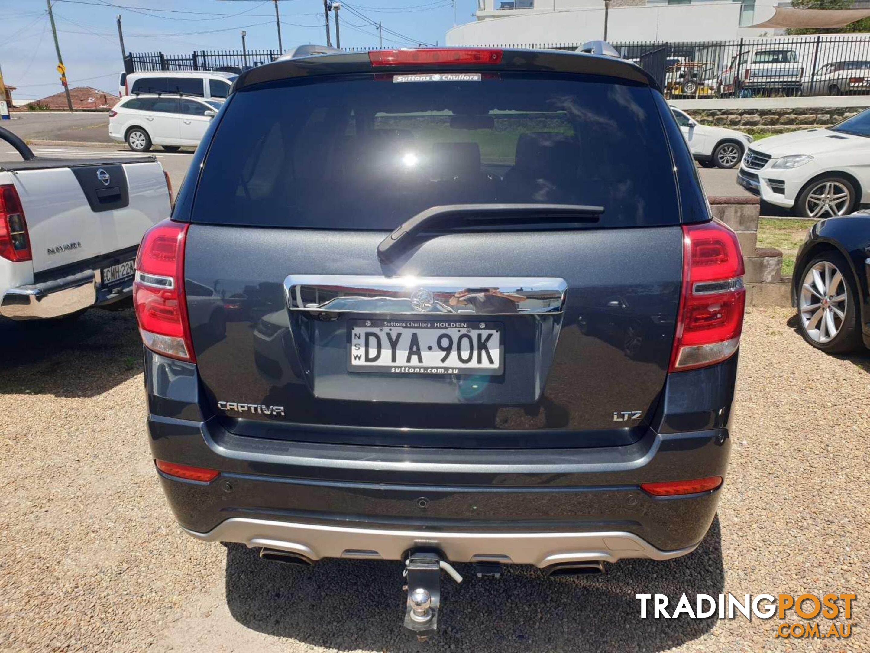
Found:
[{"label": "dark grey tailgate panel with Captiva and LTZ badges", "polygon": [[[404,445],[438,441],[408,429],[472,437],[495,429],[526,442],[530,431],[561,431],[573,438],[568,446],[582,446],[584,432],[602,429],[624,443],[626,428],[655,407],[679,303],[679,226],[451,233],[392,266],[375,255],[383,236],[191,225],[185,288],[197,367],[218,414],[264,427],[281,422],[282,430],[324,441],[357,441],[349,431],[365,427],[383,429],[382,436],[393,429],[394,443]],[[349,374],[348,320],[365,314],[319,320],[291,312],[284,287],[290,274],[551,277],[565,279],[566,303],[563,313],[499,316],[499,376]],[[218,402],[255,409],[221,410]],[[284,407],[284,416],[261,406]],[[641,417],[614,421],[622,411]]]}]

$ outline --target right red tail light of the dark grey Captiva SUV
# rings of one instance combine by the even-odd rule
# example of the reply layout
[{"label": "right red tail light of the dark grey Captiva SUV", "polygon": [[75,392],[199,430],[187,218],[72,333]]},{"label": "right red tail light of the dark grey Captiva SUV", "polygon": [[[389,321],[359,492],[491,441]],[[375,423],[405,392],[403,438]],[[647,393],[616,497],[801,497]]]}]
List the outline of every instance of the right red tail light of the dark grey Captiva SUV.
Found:
[{"label": "right red tail light of the dark grey Captiva SUV", "polygon": [[740,345],[746,289],[737,234],[717,221],[683,226],[683,292],[669,371],[726,360]]}]

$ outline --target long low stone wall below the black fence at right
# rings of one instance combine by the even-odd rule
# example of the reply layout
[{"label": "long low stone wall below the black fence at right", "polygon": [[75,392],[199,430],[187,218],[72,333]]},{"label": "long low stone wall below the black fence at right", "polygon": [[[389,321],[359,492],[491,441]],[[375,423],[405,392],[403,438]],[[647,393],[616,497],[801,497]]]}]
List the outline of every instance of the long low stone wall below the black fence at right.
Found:
[{"label": "long low stone wall below the black fence at right", "polygon": [[692,109],[689,114],[701,125],[753,127],[767,131],[827,126],[850,118],[860,107],[783,107],[780,109]]}]

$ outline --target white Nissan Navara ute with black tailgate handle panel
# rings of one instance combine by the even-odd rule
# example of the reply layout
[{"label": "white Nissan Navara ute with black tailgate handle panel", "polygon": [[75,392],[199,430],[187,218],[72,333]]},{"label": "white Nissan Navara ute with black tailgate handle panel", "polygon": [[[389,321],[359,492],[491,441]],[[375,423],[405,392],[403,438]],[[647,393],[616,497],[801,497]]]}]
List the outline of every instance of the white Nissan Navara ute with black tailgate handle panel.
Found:
[{"label": "white Nissan Navara ute with black tailgate handle panel", "polygon": [[153,157],[55,159],[0,128],[23,160],[0,162],[0,315],[59,318],[131,296],[144,232],[169,216]]}]

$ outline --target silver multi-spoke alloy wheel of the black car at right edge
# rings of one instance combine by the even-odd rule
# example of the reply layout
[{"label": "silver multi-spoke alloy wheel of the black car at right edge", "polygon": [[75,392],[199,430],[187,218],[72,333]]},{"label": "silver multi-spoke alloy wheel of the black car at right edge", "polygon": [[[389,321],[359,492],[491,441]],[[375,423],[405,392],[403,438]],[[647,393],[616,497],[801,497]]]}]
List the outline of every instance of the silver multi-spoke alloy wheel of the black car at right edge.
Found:
[{"label": "silver multi-spoke alloy wheel of the black car at right edge", "polygon": [[804,274],[800,321],[813,342],[833,340],[846,320],[846,279],[833,263],[822,260]]}]

